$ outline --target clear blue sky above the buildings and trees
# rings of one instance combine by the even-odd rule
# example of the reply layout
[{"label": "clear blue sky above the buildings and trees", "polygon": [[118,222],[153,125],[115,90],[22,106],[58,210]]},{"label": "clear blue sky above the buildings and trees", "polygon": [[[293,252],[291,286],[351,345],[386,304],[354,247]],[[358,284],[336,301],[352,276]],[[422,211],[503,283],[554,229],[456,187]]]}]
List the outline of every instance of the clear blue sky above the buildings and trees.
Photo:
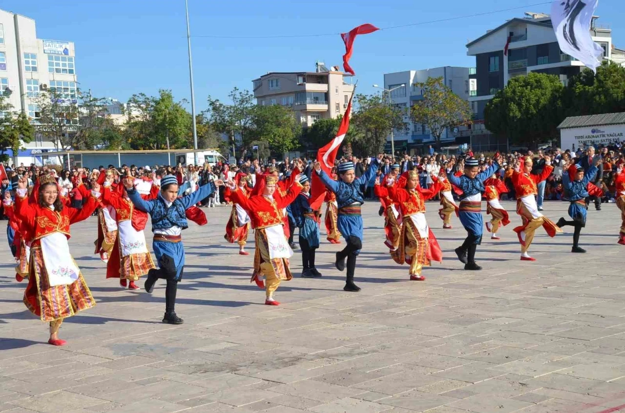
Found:
[{"label": "clear blue sky above the buildings and trees", "polygon": [[[435,21],[521,7],[479,17],[388,29],[358,37],[351,66],[359,91],[372,93],[382,74],[439,66],[475,66],[466,43],[523,12],[549,12],[540,0],[189,0],[196,107],[208,95],[227,99],[232,87],[252,89],[266,72],[314,70],[316,61],[342,65],[336,36],[263,39]],[[0,8],[36,20],[37,37],[73,41],[83,89],[126,101],[134,93],[173,90],[189,99],[184,0],[2,0]],[[599,23],[625,48],[625,1],[601,0]],[[198,37],[194,37],[198,36]],[[199,36],[251,36],[224,39]],[[342,67],[342,66],[341,66]]]}]

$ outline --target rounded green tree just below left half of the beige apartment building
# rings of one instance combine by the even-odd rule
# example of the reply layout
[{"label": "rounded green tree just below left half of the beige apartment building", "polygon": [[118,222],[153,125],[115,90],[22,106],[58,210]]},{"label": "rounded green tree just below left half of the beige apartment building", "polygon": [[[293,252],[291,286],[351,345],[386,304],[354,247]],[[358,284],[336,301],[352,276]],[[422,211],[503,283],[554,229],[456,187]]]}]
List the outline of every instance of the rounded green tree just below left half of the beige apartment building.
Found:
[{"label": "rounded green tree just below left half of the beige apartment building", "polygon": [[301,135],[301,124],[288,107],[257,105],[252,110],[252,125],[256,140],[267,142],[274,153],[289,152],[299,145],[297,137]]}]

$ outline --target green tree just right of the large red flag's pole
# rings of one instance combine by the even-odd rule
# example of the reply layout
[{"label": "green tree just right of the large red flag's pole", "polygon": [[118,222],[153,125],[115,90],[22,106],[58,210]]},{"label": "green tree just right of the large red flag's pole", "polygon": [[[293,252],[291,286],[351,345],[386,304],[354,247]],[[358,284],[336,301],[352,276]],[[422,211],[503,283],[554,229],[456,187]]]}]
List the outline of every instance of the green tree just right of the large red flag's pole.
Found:
[{"label": "green tree just right of the large red flag's pole", "polygon": [[[369,156],[384,150],[391,129],[406,130],[404,112],[388,105],[381,94],[356,95],[357,107],[351,122],[357,134],[349,138],[354,153]],[[348,134],[349,135],[349,134]]]}]

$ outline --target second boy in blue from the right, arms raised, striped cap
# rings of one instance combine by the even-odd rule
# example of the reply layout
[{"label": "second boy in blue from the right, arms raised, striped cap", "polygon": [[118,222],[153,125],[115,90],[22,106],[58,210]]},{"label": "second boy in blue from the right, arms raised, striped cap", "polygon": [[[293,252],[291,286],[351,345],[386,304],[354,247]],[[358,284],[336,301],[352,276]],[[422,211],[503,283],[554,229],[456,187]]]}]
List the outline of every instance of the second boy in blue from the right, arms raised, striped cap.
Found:
[{"label": "second boy in blue from the right, arms raised, striped cap", "polygon": [[[468,158],[464,161],[464,167],[477,167],[479,162],[476,158]],[[447,179],[452,185],[460,188],[459,218],[462,226],[467,231],[467,237],[459,248],[456,248],[458,259],[464,263],[465,270],[481,270],[475,263],[475,251],[477,245],[482,243],[482,232],[484,230],[484,220],[482,220],[482,193],[484,193],[484,181],[499,170],[499,164],[493,162],[484,172],[478,173],[473,179],[462,175],[456,177],[447,170]]]}]

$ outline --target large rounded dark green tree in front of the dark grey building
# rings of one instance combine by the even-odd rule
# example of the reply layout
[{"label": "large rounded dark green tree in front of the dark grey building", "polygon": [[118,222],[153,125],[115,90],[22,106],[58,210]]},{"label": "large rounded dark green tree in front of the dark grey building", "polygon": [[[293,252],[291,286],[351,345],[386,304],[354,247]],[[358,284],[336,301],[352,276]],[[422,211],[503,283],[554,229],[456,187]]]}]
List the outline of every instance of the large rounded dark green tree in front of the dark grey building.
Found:
[{"label": "large rounded dark green tree in front of the dark grey building", "polygon": [[555,75],[530,73],[509,80],[484,109],[484,124],[509,142],[536,148],[557,136],[564,86]]}]

